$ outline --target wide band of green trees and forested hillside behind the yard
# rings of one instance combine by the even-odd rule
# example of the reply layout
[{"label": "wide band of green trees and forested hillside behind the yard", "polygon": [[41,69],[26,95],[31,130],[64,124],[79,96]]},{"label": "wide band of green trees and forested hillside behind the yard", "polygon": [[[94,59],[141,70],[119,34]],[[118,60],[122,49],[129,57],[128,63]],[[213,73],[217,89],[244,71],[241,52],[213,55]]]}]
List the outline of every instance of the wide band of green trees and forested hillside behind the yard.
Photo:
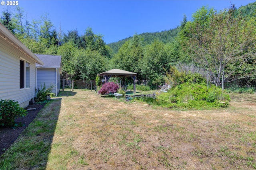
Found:
[{"label": "wide band of green trees and forested hillside behind the yard", "polygon": [[118,68],[136,72],[138,80],[156,88],[174,82],[174,76],[206,77],[207,72],[208,80],[221,86],[222,76],[224,82],[256,79],[255,9],[256,2],[221,12],[203,6],[174,29],[109,45],[91,27],[83,35],[76,29],[63,33],[47,14],[30,21],[20,7],[2,11],[0,21],[33,53],[61,55],[62,78],[95,80],[98,73]]}]

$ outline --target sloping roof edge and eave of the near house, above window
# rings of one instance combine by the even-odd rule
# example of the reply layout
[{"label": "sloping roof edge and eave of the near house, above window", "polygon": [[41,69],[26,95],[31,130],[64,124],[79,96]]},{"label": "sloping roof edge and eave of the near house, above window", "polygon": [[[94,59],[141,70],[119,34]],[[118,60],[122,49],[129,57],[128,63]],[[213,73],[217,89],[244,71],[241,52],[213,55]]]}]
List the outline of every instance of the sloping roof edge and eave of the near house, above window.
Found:
[{"label": "sloping roof edge and eave of the near house, above window", "polygon": [[18,49],[28,58],[32,59],[36,63],[44,65],[44,63],[32,53],[19,39],[17,39],[2,23],[0,23],[0,38],[6,40],[6,43],[10,43],[14,48]]}]

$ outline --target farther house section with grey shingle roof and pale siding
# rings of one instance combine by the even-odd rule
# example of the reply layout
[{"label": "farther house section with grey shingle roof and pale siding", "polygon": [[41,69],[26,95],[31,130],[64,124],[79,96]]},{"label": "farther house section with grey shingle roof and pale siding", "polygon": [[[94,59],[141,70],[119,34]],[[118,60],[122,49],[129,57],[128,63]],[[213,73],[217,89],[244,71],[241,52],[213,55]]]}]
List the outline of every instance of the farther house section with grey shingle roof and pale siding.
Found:
[{"label": "farther house section with grey shingle roof and pale siding", "polygon": [[44,63],[44,65],[36,64],[36,87],[46,88],[54,85],[52,93],[56,96],[60,92],[60,74],[61,70],[61,56],[59,55],[41,55],[36,56]]}]

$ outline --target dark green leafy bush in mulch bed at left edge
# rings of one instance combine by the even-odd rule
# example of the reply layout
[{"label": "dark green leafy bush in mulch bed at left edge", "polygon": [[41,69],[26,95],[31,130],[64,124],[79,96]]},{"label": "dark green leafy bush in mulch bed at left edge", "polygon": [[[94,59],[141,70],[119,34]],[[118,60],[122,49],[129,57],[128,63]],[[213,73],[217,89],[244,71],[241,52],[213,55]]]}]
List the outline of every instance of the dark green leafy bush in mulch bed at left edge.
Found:
[{"label": "dark green leafy bush in mulch bed at left edge", "polygon": [[14,100],[0,100],[0,126],[15,126],[14,119],[25,116],[26,110]]}]

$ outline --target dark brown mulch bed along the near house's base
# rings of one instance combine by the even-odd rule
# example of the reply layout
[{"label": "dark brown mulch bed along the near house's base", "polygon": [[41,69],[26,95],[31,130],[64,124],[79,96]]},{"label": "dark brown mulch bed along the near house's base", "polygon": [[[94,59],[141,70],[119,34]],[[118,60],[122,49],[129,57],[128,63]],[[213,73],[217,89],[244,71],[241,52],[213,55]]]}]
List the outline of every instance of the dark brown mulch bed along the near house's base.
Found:
[{"label": "dark brown mulch bed along the near house's base", "polygon": [[18,136],[28,127],[28,125],[35,119],[38,112],[45,104],[28,105],[25,109],[36,108],[28,110],[24,117],[15,119],[15,123],[23,125],[22,127],[2,127],[0,126],[0,156],[14,143]]}]

